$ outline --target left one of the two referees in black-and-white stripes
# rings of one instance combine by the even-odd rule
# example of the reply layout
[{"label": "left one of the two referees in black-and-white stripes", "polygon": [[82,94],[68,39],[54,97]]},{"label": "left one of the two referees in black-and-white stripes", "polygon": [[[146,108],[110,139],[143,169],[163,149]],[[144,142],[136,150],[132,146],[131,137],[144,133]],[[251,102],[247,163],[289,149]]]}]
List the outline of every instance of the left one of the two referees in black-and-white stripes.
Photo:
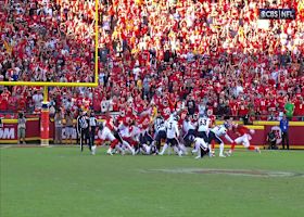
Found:
[{"label": "left one of the two referees in black-and-white stripes", "polygon": [[80,138],[80,150],[84,151],[84,144],[89,144],[89,149],[91,151],[91,145],[87,140],[89,137],[89,118],[86,112],[80,111],[79,116],[77,117],[77,133]]}]

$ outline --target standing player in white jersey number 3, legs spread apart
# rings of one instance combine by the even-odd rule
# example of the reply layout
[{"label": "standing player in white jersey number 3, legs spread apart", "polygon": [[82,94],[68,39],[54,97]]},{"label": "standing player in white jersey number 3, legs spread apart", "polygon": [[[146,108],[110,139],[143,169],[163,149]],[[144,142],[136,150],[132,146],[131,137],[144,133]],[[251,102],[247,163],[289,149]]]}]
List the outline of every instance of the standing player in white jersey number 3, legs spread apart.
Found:
[{"label": "standing player in white jersey number 3, legs spread apart", "polygon": [[160,155],[163,155],[166,149],[168,148],[168,145],[170,144],[170,146],[174,148],[174,151],[177,152],[178,155],[180,156],[182,152],[178,149],[178,140],[177,140],[177,138],[179,137],[178,123],[175,120],[174,115],[172,115],[169,119],[165,122],[165,127],[166,127],[167,140]]}]

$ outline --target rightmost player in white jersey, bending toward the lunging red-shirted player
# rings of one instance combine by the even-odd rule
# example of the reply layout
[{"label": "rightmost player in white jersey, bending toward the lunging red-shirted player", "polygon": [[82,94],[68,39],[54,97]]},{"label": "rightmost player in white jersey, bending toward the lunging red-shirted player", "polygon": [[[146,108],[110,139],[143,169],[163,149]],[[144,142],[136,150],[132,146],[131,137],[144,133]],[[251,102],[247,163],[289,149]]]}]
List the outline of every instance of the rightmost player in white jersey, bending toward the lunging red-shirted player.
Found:
[{"label": "rightmost player in white jersey, bending toward the lunging red-shirted player", "polygon": [[[233,140],[227,135],[228,128],[229,128],[229,125],[224,124],[224,125],[215,126],[210,131],[208,145],[212,143],[212,141],[215,141],[216,143],[218,143],[219,144],[219,156],[220,157],[225,157],[225,155],[224,155],[224,142],[220,139],[220,137],[225,137],[230,143],[233,143]],[[212,151],[211,146],[210,146],[210,151]]]}]

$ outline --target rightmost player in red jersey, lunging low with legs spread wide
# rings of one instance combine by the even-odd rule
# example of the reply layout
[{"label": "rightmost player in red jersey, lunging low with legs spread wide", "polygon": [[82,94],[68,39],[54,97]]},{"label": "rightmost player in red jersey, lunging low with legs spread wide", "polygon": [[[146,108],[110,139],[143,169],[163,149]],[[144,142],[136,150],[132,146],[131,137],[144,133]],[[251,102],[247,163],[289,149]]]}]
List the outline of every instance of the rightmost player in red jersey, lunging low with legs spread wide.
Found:
[{"label": "rightmost player in red jersey, lunging low with legs spread wide", "polygon": [[250,144],[250,140],[252,139],[251,135],[254,135],[253,129],[249,129],[243,125],[232,125],[232,130],[239,136],[237,139],[235,139],[235,142],[231,145],[231,149],[226,152],[228,156],[232,154],[235,151],[236,144],[242,144],[244,148],[246,148],[250,151],[256,151],[261,153],[261,150],[258,146],[254,146]]}]

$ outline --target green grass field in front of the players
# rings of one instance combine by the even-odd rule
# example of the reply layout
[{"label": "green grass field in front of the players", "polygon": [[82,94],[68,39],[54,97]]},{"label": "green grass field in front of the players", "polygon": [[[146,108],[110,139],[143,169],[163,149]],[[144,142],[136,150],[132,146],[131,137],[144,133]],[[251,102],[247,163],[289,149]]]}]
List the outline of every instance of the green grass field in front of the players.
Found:
[{"label": "green grass field in front of the players", "polygon": [[201,161],[104,149],[0,152],[1,217],[304,216],[303,151]]}]

